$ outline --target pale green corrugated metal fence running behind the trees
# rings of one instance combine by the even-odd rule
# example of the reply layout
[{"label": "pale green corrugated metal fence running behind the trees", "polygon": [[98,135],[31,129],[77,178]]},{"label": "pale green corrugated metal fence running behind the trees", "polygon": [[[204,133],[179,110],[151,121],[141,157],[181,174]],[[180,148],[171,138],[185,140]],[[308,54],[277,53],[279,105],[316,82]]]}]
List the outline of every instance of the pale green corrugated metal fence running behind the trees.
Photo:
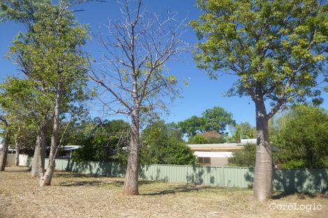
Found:
[{"label": "pale green corrugated metal fence running behind the trees", "polygon": [[[70,159],[56,159],[56,169],[115,177],[124,177],[125,173],[125,168],[114,162],[77,164]],[[140,170],[140,178],[218,187],[251,188],[253,172],[254,169],[248,167],[152,164]],[[328,169],[274,169],[273,173],[273,187],[277,191],[328,193]]]}]

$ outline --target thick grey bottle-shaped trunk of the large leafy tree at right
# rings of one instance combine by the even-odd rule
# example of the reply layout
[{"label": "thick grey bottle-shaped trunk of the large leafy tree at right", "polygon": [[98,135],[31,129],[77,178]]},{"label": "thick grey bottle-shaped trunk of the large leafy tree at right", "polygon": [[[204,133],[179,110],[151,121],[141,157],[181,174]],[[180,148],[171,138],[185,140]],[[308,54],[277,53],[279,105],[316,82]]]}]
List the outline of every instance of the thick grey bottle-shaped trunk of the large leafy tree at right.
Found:
[{"label": "thick grey bottle-shaped trunk of the large leafy tree at right", "polygon": [[264,101],[255,101],[255,110],[258,141],[256,146],[254,198],[258,201],[264,201],[271,198],[272,192],[272,157]]}]

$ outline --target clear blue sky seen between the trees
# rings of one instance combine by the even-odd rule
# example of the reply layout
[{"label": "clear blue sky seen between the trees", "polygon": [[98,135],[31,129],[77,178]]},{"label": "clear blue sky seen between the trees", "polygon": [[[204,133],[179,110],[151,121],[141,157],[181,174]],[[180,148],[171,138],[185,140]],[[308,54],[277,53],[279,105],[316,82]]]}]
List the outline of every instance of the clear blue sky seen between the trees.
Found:
[{"label": "clear blue sky seen between the trees", "polygon": [[[195,6],[195,0],[148,0],[144,5],[148,11],[155,13],[165,13],[167,10],[177,11],[180,19],[188,17],[188,20],[193,20],[201,14],[201,11]],[[76,13],[78,21],[82,24],[89,24],[93,31],[98,26],[102,28],[107,20],[115,20],[119,17],[119,7],[114,0],[108,0],[107,3],[84,3],[76,8],[84,9],[84,11]],[[0,23],[0,82],[6,75],[20,75],[16,66],[3,58],[18,31],[24,31],[24,27],[13,22]],[[191,45],[197,42],[195,32],[191,28],[188,28],[184,34],[184,40]],[[94,57],[101,54],[101,47],[94,42],[89,42],[84,49]],[[193,115],[200,116],[205,109],[219,106],[230,111],[237,123],[247,121],[255,125],[255,107],[251,98],[223,97],[223,93],[228,91],[236,78],[227,75],[218,80],[208,79],[204,71],[195,67],[191,54],[184,54],[180,61],[171,61],[167,67],[170,68],[172,74],[188,80],[188,86],[182,86],[183,98],[172,102],[171,114],[163,117],[167,122],[178,122]],[[327,94],[323,97],[327,99]],[[322,107],[327,109],[327,102],[322,104]],[[95,111],[91,114],[98,115]]]}]

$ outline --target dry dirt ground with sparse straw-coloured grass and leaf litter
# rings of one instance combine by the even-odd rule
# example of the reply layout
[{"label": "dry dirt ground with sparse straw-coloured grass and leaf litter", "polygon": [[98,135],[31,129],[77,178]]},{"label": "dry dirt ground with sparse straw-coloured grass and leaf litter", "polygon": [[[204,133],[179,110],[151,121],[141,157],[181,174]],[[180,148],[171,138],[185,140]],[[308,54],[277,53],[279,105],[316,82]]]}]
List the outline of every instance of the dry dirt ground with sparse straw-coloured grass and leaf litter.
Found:
[{"label": "dry dirt ground with sparse straw-coloured grass and leaf litter", "polygon": [[322,195],[276,195],[259,203],[250,189],[140,181],[139,196],[124,196],[123,182],[57,171],[52,185],[40,188],[27,168],[9,166],[0,172],[0,217],[319,218],[328,214],[328,196]]}]

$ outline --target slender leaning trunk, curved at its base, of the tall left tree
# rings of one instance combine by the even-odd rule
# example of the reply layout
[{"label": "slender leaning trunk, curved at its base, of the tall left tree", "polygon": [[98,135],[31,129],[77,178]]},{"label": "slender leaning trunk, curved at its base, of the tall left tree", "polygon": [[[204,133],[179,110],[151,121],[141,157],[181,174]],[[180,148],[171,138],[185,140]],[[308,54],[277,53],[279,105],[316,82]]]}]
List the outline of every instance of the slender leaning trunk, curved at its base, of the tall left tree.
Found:
[{"label": "slender leaning trunk, curved at its base, of the tall left tree", "polygon": [[56,104],[54,106],[54,127],[52,129],[52,137],[51,137],[51,147],[50,147],[50,155],[49,155],[49,163],[47,166],[47,171],[45,171],[45,175],[40,179],[40,187],[45,185],[51,185],[52,176],[54,175],[54,168],[56,166],[56,155],[57,155],[57,139],[59,133],[59,113],[61,107],[61,83],[59,82]]}]

